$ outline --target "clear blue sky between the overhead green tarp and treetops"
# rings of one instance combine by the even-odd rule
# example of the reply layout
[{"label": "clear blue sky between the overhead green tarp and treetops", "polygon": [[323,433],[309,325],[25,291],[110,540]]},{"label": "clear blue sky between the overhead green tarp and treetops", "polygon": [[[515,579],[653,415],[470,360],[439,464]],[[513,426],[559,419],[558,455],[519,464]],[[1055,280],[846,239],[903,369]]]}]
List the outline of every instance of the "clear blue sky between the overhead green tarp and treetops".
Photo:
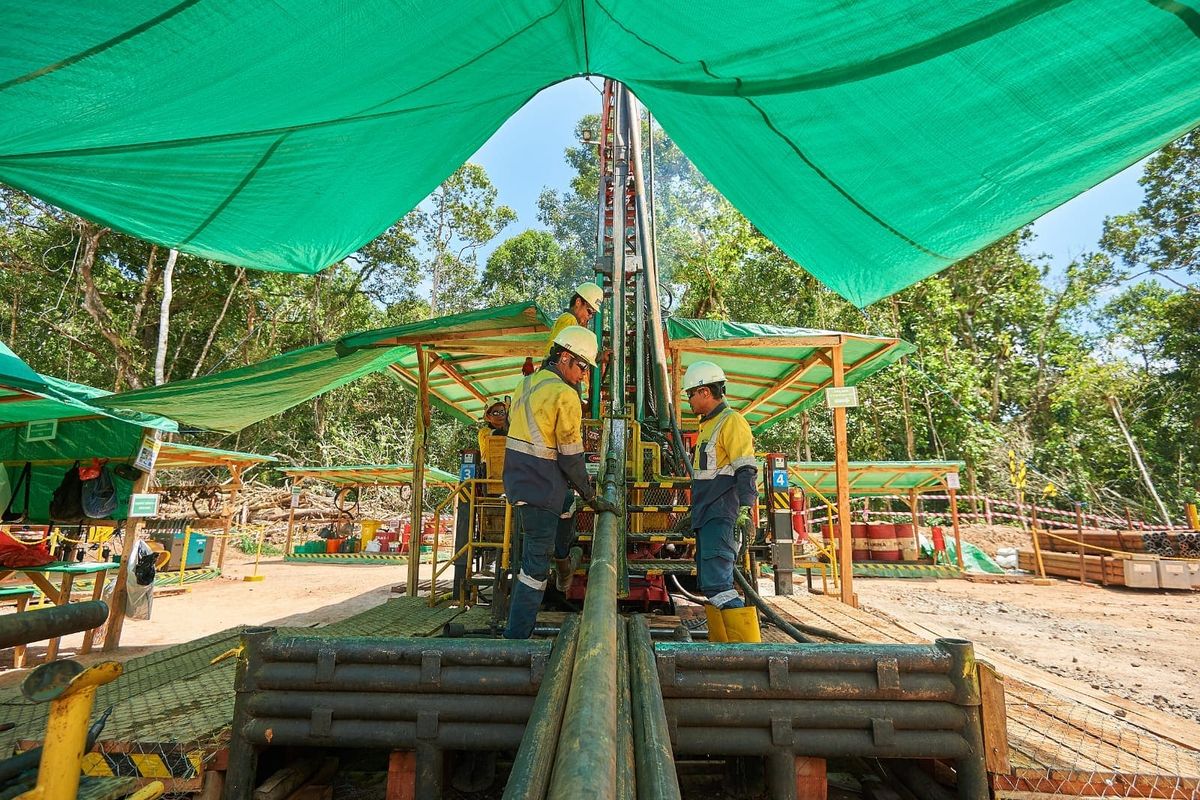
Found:
[{"label": "clear blue sky between the overhead green tarp and treetops", "polygon": [[[472,156],[470,161],[487,169],[500,201],[517,212],[517,222],[500,239],[540,227],[538,194],[546,186],[564,188],[571,179],[563,150],[574,144],[578,119],[600,110],[601,79],[593,82],[576,78],[544,90]],[[1030,254],[1045,254],[1056,269],[1062,269],[1073,258],[1094,251],[1104,217],[1138,206],[1140,176],[1141,166],[1134,164],[1043,216],[1033,225],[1037,240]]]}]

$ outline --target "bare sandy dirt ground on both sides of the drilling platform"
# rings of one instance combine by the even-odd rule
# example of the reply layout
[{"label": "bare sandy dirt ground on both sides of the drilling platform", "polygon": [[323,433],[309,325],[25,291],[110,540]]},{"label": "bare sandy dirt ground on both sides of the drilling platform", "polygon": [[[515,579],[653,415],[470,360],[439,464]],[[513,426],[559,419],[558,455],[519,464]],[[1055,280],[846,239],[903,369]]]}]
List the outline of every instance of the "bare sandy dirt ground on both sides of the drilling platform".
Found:
[{"label": "bare sandy dirt ground on both sides of the drilling platform", "polygon": [[[160,594],[151,620],[126,622],[118,657],[240,624],[342,619],[386,600],[407,570],[286,564],[276,557],[260,564],[264,581],[244,582],[252,566],[251,559],[230,551],[221,578],[192,584],[182,594]],[[426,566],[422,575],[427,572]],[[1085,588],[1067,581],[1036,587],[882,578],[860,578],[856,589],[865,607],[971,639],[984,657],[1008,656],[1200,722],[1200,593]],[[79,634],[67,637],[64,655],[73,654],[79,642]],[[30,648],[34,663],[42,650]],[[5,670],[0,685],[22,674]]]}]

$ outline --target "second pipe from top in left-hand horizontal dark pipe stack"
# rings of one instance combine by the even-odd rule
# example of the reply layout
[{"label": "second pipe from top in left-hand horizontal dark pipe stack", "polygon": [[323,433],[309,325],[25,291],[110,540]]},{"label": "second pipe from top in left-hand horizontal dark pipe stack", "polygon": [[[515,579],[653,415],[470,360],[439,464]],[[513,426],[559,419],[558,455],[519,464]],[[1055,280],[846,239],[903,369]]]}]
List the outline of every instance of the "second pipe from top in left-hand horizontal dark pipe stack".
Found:
[{"label": "second pipe from top in left-hand horizontal dark pipe stack", "polygon": [[263,664],[256,680],[271,691],[310,691],[336,686],[341,692],[460,692],[463,694],[535,694],[535,682],[526,667],[443,667],[437,681],[421,675],[413,664],[340,664],[329,680],[317,680],[317,664],[275,662]]}]

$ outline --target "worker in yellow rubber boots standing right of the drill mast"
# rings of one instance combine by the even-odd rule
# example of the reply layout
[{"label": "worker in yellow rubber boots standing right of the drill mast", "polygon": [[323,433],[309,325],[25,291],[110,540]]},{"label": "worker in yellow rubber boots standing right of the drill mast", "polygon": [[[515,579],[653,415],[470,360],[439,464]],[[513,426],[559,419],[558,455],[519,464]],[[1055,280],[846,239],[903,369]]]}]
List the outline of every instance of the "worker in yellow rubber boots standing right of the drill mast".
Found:
[{"label": "worker in yellow rubber boots standing right of the drill mast", "polygon": [[758,462],[750,423],[726,404],[725,371],[712,361],[688,367],[683,389],[700,416],[691,469],[691,528],[700,591],[708,600],[708,638],[758,642],[758,613],[733,588],[739,534],[758,499]]}]

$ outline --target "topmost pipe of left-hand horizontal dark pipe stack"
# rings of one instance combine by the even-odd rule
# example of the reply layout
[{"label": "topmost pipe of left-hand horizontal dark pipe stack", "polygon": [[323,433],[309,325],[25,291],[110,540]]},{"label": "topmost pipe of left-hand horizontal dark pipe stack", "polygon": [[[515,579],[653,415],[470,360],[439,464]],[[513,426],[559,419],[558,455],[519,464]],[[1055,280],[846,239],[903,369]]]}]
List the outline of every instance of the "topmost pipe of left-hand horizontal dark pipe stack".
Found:
[{"label": "topmost pipe of left-hand horizontal dark pipe stack", "polygon": [[260,645],[263,661],[317,661],[325,651],[337,663],[420,663],[436,652],[442,664],[520,667],[533,655],[550,652],[548,642],[510,639],[440,639],[391,637],[272,636]]}]

